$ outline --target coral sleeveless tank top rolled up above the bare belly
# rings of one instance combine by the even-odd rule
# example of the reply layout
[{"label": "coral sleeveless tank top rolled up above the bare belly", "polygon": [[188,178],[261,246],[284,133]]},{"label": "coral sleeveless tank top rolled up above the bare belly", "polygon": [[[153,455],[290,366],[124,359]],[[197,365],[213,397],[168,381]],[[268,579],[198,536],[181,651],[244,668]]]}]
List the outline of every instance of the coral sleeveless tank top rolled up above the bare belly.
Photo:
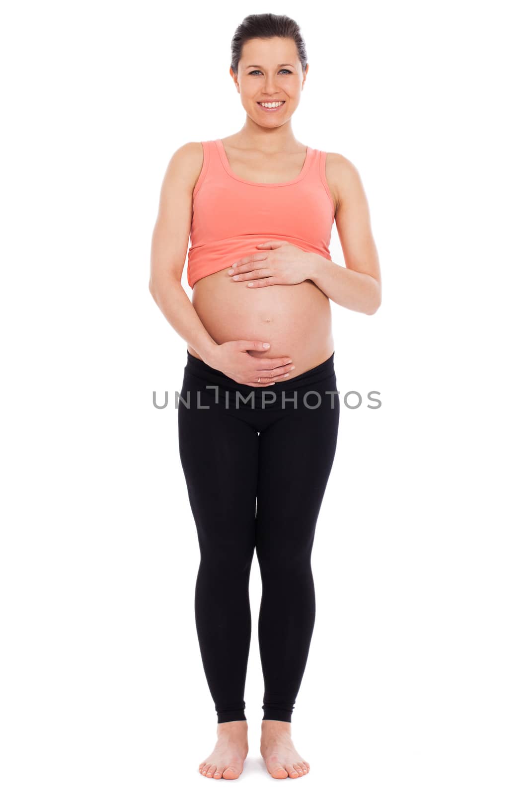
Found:
[{"label": "coral sleeveless tank top rolled up above the bare belly", "polygon": [[234,174],[221,140],[203,141],[193,189],[188,285],[254,254],[258,243],[285,240],[331,260],[335,207],[326,153],[308,146],[304,167],[288,182],[249,182]]}]

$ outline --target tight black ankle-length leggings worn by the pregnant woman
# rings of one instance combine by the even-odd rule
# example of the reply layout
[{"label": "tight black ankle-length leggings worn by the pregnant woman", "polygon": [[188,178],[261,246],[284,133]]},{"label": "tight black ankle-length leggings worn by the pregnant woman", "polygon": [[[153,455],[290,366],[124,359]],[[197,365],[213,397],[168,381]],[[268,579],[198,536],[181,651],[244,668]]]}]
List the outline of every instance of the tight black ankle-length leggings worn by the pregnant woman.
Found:
[{"label": "tight black ankle-length leggings worn by the pregnant woman", "polygon": [[199,537],[195,622],[218,723],[246,720],[254,547],[263,717],[291,722],[315,624],[311,548],[339,430],[334,356],[259,388],[188,351],[180,461]]}]

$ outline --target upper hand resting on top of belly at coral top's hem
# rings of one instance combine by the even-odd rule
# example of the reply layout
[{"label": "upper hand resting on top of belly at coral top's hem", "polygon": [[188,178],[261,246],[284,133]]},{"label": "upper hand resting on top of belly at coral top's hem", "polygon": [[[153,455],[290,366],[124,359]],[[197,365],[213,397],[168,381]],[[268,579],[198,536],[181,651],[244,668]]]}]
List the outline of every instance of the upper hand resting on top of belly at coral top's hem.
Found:
[{"label": "upper hand resting on top of belly at coral top's hem", "polygon": [[[233,281],[246,281],[247,287],[298,285],[311,278],[315,254],[292,246],[285,240],[268,240],[256,246],[269,249],[242,257],[228,270]],[[232,275],[234,274],[234,275]]]}]

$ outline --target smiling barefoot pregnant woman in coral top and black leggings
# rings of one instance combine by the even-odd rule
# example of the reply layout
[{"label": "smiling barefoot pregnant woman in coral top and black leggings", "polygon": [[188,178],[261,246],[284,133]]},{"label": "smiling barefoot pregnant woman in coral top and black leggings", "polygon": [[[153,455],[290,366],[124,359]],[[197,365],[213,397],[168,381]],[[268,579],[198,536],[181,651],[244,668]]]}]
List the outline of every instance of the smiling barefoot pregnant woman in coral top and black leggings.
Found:
[{"label": "smiling barefoot pregnant woman in coral top and black leggings", "polygon": [[[199,772],[238,778],[248,753],[255,549],[261,754],[273,778],[298,778],[309,771],[291,720],[315,622],[311,547],[339,429],[330,299],[373,314],[381,276],[357,169],[292,133],[308,76],[296,22],[246,17],[232,40],[230,76],[245,123],[173,154],[149,289],[188,345],[179,448],[199,539],[195,620],[218,735]],[[331,262],[334,220],[346,268]],[[190,234],[191,301],[181,285]]]}]

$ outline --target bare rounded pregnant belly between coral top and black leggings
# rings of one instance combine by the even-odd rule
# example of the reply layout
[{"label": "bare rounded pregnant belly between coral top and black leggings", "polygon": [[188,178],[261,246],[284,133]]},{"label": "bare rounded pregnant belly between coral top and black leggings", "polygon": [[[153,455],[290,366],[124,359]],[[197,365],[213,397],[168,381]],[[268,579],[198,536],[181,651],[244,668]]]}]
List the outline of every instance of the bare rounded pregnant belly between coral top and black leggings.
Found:
[{"label": "bare rounded pregnant belly between coral top and black leggings", "polygon": [[[245,281],[232,281],[221,270],[196,282],[191,302],[216,343],[270,343],[267,351],[249,351],[250,355],[290,356],[295,365],[292,377],[325,362],[334,351],[330,302],[312,281],[253,288]],[[188,351],[201,359],[189,345]]]}]

